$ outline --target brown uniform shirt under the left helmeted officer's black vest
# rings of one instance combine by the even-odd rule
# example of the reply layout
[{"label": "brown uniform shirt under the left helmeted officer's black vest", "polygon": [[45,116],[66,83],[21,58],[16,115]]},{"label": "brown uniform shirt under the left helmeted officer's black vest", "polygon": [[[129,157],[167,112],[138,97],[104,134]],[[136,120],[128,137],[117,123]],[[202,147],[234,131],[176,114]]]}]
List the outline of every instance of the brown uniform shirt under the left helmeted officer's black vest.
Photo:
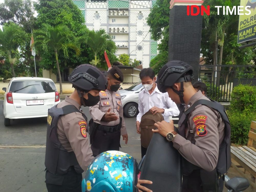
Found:
[{"label": "brown uniform shirt under the left helmeted officer's black vest", "polygon": [[[66,96],[65,101],[61,101],[57,108],[66,105],[74,105],[77,109],[81,109],[78,102]],[[57,133],[61,145],[68,151],[74,151],[77,161],[81,168],[86,171],[91,163],[92,150],[87,130],[87,122],[79,112],[70,113],[60,116],[58,120]]]}]

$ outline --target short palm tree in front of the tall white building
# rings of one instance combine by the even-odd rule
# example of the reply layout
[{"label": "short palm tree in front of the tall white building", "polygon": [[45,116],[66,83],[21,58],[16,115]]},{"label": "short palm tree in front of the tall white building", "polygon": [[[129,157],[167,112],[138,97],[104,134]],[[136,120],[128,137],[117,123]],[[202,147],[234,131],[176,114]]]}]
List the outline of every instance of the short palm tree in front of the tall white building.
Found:
[{"label": "short palm tree in front of the tall white building", "polygon": [[116,45],[113,42],[111,36],[106,34],[104,29],[100,29],[99,31],[91,30],[87,34],[87,45],[93,51],[94,60],[90,62],[92,65],[99,64],[99,60],[97,60],[97,55],[103,49],[112,49],[114,52],[116,51]]}]

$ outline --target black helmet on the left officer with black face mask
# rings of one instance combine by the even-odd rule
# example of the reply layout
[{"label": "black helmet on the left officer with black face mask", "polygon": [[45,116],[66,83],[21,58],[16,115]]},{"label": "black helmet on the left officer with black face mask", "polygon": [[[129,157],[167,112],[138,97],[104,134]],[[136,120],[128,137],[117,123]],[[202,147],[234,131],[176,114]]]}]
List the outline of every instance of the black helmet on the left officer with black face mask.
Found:
[{"label": "black helmet on the left officer with black face mask", "polygon": [[105,91],[108,83],[106,76],[97,67],[89,64],[77,66],[68,77],[73,87],[79,88],[84,92],[92,89]]}]

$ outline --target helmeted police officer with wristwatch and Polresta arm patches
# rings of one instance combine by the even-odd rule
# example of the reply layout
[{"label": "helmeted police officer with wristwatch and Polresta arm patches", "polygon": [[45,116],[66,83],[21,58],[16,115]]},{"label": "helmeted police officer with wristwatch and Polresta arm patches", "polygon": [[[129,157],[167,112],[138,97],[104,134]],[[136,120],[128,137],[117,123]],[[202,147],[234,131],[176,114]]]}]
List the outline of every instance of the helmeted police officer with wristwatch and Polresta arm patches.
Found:
[{"label": "helmeted police officer with wristwatch and Polresta arm patches", "polygon": [[[176,103],[185,103],[179,134],[173,121],[157,122],[157,130],[183,156],[182,191],[222,191],[231,164],[230,124],[225,109],[196,91],[193,68],[179,60],[166,63],[158,73],[157,87]],[[217,107],[216,107],[217,106]],[[175,165],[174,165],[175,166]]]}]

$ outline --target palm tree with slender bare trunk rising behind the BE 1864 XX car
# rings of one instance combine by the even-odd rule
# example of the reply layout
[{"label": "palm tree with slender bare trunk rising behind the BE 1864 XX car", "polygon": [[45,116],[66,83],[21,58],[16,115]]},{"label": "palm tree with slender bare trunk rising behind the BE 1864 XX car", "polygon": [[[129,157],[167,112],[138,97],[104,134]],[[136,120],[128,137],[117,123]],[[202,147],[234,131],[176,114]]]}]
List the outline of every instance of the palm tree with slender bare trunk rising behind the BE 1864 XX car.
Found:
[{"label": "palm tree with slender bare trunk rising behind the BE 1864 XX car", "polygon": [[80,45],[76,41],[70,29],[67,26],[62,25],[52,27],[49,24],[44,24],[41,29],[34,31],[34,37],[35,41],[33,49],[38,52],[43,51],[55,54],[60,81],[60,94],[62,94],[62,80],[58,59],[59,51],[62,50],[65,57],[68,57],[68,48],[71,48],[76,51],[77,55],[79,55]]}]

